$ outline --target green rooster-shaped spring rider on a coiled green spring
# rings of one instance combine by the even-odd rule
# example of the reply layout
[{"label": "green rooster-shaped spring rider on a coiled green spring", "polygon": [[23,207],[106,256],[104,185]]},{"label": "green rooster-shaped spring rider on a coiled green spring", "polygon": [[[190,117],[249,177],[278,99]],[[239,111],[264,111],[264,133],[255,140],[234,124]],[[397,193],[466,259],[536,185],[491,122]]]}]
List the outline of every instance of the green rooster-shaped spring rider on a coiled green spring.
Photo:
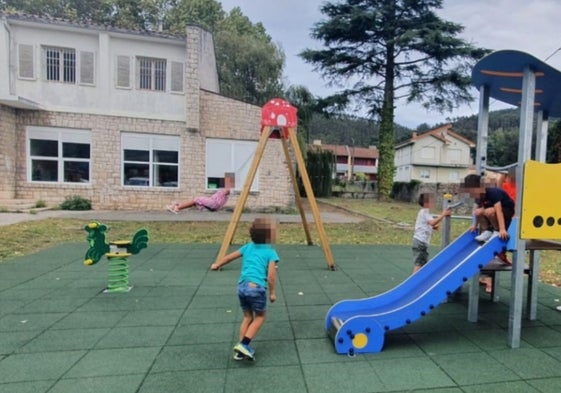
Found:
[{"label": "green rooster-shaped spring rider on a coiled green spring", "polygon": [[109,260],[109,279],[105,292],[130,291],[132,287],[129,286],[127,258],[148,247],[148,231],[141,228],[136,231],[132,240],[118,240],[107,244],[105,240],[107,225],[93,221],[84,229],[88,232],[86,240],[90,245],[86,252],[84,265],[94,265],[105,255]]}]

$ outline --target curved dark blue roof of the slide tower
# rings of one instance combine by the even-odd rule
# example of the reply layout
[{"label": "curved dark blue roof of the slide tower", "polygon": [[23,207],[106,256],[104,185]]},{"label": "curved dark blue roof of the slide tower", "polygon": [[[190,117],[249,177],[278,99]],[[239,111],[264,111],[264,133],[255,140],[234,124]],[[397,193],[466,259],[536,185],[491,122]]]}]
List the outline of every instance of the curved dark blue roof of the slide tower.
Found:
[{"label": "curved dark blue roof of the slide tower", "polygon": [[528,53],[500,50],[485,56],[473,67],[472,84],[488,86],[491,98],[520,107],[526,68],[536,75],[535,110],[561,117],[561,72]]}]

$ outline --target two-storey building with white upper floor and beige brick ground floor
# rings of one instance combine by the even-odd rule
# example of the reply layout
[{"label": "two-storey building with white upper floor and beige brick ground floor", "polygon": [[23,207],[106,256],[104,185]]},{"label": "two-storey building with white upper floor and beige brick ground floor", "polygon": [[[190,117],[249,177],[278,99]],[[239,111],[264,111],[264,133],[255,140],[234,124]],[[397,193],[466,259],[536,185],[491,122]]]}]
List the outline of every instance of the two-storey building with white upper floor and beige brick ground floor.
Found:
[{"label": "two-storey building with white upper floor and beige brick ground floor", "polygon": [[[160,209],[212,193],[227,173],[240,189],[260,125],[260,107],[219,94],[213,37],[199,27],[0,13],[0,200]],[[280,142],[265,155],[248,206],[292,204]]]}]

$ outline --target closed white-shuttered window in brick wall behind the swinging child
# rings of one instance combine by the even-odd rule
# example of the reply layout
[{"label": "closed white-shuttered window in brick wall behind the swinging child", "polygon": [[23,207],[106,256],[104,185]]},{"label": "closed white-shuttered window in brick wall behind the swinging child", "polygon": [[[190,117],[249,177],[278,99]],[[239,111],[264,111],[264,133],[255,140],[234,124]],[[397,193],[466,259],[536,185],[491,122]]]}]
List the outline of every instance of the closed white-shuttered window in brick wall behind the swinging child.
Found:
[{"label": "closed white-shuttered window in brick wall behind the swinging child", "polygon": [[[207,138],[206,188],[218,188],[221,184],[217,184],[216,180],[212,179],[223,179],[226,173],[234,173],[234,189],[241,190],[249,174],[256,149],[256,141]],[[259,191],[259,169],[255,174],[250,191]]]}]

